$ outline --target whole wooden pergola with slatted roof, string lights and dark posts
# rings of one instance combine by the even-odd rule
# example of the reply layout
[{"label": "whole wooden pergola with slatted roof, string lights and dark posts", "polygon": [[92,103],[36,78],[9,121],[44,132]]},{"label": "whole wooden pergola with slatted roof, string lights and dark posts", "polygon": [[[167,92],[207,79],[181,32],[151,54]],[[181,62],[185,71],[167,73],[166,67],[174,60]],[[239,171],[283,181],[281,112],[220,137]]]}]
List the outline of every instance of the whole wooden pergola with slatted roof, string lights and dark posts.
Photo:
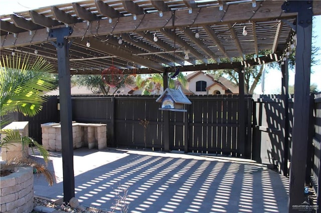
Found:
[{"label": "whole wooden pergola with slatted roof, string lights and dark posts", "polygon": [[[239,72],[239,95],[244,98],[242,69],[279,61],[282,92],[287,94],[286,56],[296,44],[292,206],[304,200],[301,159],[308,138],[312,16],[319,14],[321,1],[83,0],[1,15],[1,55],[22,52],[31,61],[42,56],[59,73],[64,200],[69,201],[75,195],[71,74],[101,74],[114,65],[125,74],[163,73],[167,85],[168,73],[178,67],[180,71],[231,68]],[[259,56],[260,50],[271,54]],[[253,59],[246,60],[247,54]],[[220,62],[223,58],[229,62]]]}]

